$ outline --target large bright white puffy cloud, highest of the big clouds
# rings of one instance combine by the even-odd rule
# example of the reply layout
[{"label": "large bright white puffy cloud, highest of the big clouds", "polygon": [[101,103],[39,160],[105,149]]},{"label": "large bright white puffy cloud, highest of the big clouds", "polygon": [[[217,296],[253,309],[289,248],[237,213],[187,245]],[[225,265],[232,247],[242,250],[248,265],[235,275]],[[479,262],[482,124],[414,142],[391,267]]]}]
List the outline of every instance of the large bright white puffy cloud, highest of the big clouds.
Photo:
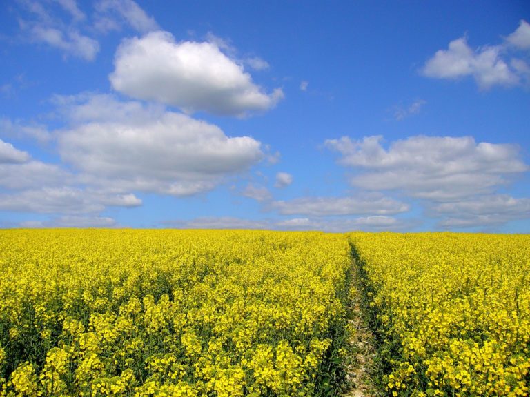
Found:
[{"label": "large bright white puffy cloud, highest of the big clouds", "polygon": [[264,93],[215,43],[177,43],[168,32],[123,41],[110,82],[112,88],[133,98],[186,112],[242,116],[273,108],[283,98],[281,89]]}]

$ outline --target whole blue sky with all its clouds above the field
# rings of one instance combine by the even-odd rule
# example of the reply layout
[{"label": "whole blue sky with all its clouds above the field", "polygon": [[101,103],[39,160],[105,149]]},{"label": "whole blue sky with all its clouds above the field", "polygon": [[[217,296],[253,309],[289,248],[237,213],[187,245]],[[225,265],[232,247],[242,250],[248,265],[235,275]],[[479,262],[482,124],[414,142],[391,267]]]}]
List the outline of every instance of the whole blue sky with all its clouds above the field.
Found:
[{"label": "whole blue sky with all its clouds above the field", "polygon": [[0,227],[529,232],[527,1],[1,8]]}]

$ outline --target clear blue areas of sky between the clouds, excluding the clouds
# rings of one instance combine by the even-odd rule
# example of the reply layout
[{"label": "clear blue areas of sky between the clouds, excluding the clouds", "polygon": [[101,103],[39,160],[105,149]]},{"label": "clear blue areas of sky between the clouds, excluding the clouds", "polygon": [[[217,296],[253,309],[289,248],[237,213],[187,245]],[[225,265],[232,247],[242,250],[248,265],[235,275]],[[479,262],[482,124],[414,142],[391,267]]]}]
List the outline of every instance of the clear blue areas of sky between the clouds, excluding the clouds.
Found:
[{"label": "clear blue areas of sky between the clouds, excluding the clouds", "polygon": [[[92,16],[90,1],[79,8]],[[480,91],[473,79],[428,79],[420,68],[450,41],[467,36],[471,48],[498,45],[530,20],[528,1],[138,1],[162,30],[177,41],[202,41],[208,32],[225,39],[240,57],[257,56],[271,66],[250,71],[266,90],[282,87],[285,99],[277,108],[247,119],[195,117],[219,125],[228,136],[253,136],[271,152],[276,164],[260,163],[213,192],[190,198],[142,194],[141,207],[109,208],[119,224],[133,227],[164,225],[164,221],[200,216],[233,216],[259,220],[284,219],[264,212],[262,205],[238,194],[247,183],[266,185],[275,199],[301,196],[348,196],[355,193],[347,177],[352,170],[337,165],[337,154],[324,148],[326,139],[383,135],[387,143],[409,136],[473,136],[477,142],[516,143],[530,164],[530,94],[528,88]],[[95,61],[63,57],[59,50],[23,39],[17,19],[26,18],[16,2],[0,13],[0,116],[33,121],[50,130],[63,127],[50,99],[54,94],[112,92],[117,45],[137,33],[128,28],[98,36]],[[63,15],[66,17],[66,15]],[[306,91],[300,83],[308,82]],[[418,114],[396,121],[395,107],[422,100]],[[3,136],[35,159],[61,163],[53,143]],[[67,167],[68,165],[63,165]],[[293,175],[293,185],[273,187],[277,172]],[[256,172],[263,176],[257,176]],[[528,174],[521,175],[509,194],[530,197]],[[390,192],[395,196],[394,192]],[[414,199],[395,196],[413,208],[399,218],[424,216]],[[53,215],[50,215],[53,216]],[[42,214],[0,212],[16,223],[46,219]],[[435,228],[426,220],[414,230]],[[528,232],[528,220],[512,221],[502,232]]]}]

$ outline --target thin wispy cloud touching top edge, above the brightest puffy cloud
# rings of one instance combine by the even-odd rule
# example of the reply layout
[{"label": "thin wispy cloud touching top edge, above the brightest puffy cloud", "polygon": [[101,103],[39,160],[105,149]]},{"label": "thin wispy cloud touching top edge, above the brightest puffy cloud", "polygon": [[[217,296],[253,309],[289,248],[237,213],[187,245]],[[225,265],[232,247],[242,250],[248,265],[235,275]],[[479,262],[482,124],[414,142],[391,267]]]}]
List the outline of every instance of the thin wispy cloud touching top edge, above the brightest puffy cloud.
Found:
[{"label": "thin wispy cloud touching top edge, above the brightest puffy cloud", "polygon": [[98,12],[95,26],[103,32],[119,30],[124,22],[141,33],[159,28],[155,19],[149,17],[132,0],[100,0],[95,4],[95,8]]}]

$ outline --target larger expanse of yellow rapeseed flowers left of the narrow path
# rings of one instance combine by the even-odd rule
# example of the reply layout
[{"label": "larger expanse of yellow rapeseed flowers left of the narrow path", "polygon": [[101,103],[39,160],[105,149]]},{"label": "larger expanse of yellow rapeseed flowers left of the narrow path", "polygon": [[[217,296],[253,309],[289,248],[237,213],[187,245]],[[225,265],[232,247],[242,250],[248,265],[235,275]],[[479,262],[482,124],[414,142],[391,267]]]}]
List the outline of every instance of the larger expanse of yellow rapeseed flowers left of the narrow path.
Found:
[{"label": "larger expanse of yellow rapeseed flowers left of the narrow path", "polygon": [[310,396],[349,250],[320,232],[0,231],[0,396]]}]

